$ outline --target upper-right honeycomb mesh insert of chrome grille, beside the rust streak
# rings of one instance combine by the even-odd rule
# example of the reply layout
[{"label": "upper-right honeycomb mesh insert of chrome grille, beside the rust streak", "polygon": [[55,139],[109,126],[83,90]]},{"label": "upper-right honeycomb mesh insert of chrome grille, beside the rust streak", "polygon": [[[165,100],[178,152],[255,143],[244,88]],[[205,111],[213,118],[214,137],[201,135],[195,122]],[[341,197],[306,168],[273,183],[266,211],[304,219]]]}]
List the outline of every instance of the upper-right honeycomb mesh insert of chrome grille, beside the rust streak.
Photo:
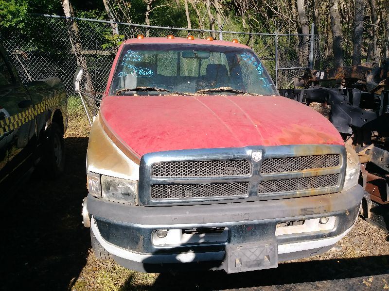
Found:
[{"label": "upper-right honeycomb mesh insert of chrome grille, beside the rust streak", "polygon": [[280,173],[336,167],[339,165],[339,155],[318,155],[266,159],[261,165],[261,173]]}]

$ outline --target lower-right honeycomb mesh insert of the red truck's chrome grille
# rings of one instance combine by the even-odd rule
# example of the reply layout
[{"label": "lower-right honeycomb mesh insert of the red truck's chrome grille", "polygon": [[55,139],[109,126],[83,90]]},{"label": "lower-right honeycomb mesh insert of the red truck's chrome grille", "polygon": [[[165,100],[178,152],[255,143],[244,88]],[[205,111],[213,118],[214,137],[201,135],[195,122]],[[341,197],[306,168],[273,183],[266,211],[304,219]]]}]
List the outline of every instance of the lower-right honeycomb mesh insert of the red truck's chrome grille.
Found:
[{"label": "lower-right honeycomb mesh insert of the red truck's chrome grille", "polygon": [[258,185],[258,194],[334,187],[337,185],[338,176],[339,174],[331,174],[305,178],[261,181]]}]

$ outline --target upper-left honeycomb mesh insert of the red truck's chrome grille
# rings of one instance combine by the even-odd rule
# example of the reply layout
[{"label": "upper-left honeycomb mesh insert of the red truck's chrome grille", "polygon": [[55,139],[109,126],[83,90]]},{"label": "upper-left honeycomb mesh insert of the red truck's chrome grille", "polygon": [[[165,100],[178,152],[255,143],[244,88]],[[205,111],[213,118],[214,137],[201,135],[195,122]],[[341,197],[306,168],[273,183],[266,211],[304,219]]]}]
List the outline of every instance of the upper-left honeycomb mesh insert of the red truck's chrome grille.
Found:
[{"label": "upper-left honeycomb mesh insert of the red truck's chrome grille", "polygon": [[215,177],[250,174],[247,160],[158,162],[152,166],[153,177]]}]

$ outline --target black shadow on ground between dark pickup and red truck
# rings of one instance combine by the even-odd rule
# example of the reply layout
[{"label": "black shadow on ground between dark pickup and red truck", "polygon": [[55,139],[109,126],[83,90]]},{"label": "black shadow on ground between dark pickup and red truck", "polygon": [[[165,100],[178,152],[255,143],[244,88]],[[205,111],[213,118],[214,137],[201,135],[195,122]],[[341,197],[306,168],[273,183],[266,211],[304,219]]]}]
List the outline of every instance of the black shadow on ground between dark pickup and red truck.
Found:
[{"label": "black shadow on ground between dark pickup and red truck", "polygon": [[87,195],[88,138],[66,138],[65,146],[62,177],[53,181],[35,172],[3,202],[4,290],[67,290],[86,264],[90,238],[82,225],[81,203]]}]

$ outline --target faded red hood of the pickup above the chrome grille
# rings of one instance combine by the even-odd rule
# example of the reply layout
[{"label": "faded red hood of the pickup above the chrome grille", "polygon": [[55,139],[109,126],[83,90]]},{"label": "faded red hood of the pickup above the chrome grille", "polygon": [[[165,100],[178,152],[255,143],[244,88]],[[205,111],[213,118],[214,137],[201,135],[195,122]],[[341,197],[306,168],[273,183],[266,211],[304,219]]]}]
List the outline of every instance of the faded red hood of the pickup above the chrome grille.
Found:
[{"label": "faded red hood of the pickup above the chrome grille", "polygon": [[192,148],[344,145],[320,113],[280,96],[106,96],[100,113],[139,157]]}]

